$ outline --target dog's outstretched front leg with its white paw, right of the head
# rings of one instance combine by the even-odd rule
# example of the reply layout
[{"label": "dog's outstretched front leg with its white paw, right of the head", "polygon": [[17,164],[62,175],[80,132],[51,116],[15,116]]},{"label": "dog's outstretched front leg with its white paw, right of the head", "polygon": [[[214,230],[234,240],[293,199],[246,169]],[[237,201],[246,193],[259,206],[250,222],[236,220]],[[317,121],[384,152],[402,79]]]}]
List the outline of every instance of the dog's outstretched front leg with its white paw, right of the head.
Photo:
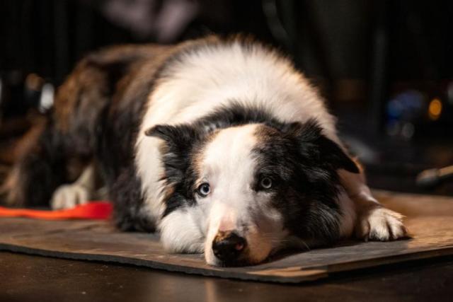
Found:
[{"label": "dog's outstretched front leg with its white paw, right of the head", "polygon": [[355,234],[364,240],[396,240],[407,236],[403,216],[386,209],[372,196],[365,175],[339,170],[340,181],[357,211]]}]

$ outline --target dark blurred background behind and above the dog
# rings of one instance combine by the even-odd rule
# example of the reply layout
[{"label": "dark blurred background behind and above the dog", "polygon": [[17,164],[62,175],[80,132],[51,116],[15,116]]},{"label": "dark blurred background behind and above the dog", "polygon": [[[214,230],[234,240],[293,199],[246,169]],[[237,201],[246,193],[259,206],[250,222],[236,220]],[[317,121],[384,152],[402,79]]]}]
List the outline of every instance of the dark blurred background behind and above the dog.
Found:
[{"label": "dark blurred background behind and above the dog", "polygon": [[452,14],[452,1],[3,0],[0,148],[91,50],[251,33],[319,87],[372,186],[453,194],[451,178],[415,185],[453,164]]}]

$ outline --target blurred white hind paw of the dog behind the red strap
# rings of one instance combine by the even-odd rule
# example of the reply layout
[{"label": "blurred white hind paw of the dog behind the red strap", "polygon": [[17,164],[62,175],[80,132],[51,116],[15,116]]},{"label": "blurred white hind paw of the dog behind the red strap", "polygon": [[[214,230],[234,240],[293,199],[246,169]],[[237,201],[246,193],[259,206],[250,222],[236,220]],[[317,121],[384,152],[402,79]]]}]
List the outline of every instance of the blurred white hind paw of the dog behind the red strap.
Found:
[{"label": "blurred white hind paw of the dog behind the red strap", "polygon": [[90,199],[90,191],[83,185],[62,185],[52,195],[52,209],[70,209],[78,204],[86,204]]}]

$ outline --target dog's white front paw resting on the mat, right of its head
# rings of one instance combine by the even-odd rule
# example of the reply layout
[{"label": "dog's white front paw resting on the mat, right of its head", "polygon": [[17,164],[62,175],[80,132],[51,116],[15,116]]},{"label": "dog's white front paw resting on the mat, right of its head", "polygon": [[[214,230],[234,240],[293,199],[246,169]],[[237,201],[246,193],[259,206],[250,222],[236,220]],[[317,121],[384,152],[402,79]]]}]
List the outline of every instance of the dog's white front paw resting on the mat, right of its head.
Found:
[{"label": "dog's white front paw resting on the mat, right of its head", "polygon": [[403,215],[384,207],[372,207],[357,217],[356,235],[363,240],[396,240],[407,236]]}]

